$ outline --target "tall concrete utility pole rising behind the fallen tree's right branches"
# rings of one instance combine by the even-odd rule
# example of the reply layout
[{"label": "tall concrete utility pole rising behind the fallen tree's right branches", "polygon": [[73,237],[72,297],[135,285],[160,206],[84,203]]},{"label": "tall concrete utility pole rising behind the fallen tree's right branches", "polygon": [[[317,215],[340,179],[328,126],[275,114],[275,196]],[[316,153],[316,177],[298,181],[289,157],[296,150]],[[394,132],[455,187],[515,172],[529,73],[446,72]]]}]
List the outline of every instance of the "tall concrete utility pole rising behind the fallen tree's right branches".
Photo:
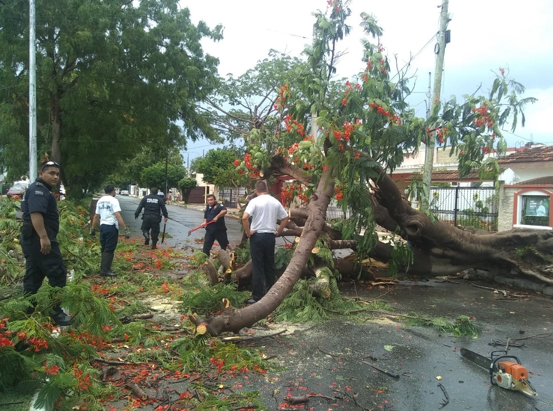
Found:
[{"label": "tall concrete utility pole rising behind the fallen tree's right branches", "polygon": [[[436,70],[434,73],[434,91],[432,91],[432,100],[430,101],[430,115],[434,112],[435,107],[440,101],[440,92],[442,85],[442,72],[444,71],[444,56],[446,52],[446,44],[449,43],[449,39],[446,40],[447,23],[449,18],[447,15],[447,6],[449,0],[444,0],[441,6],[440,13],[440,31],[438,32],[438,43],[436,45]],[[434,128],[435,124],[430,128]],[[436,145],[436,133],[426,137],[426,151],[424,156],[424,170],[422,171],[422,184],[427,189],[427,197],[422,199],[421,206],[424,209],[428,209],[430,206],[430,183],[432,181],[432,167],[434,165],[434,148]]]}]

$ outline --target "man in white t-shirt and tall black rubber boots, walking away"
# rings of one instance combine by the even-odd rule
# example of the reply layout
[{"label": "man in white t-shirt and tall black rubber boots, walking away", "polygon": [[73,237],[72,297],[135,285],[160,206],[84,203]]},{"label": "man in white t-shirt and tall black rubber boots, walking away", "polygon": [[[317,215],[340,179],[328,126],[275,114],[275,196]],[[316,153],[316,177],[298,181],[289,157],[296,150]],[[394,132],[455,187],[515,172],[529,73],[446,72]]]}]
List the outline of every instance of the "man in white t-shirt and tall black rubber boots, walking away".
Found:
[{"label": "man in white t-shirt and tall black rubber boots, walking away", "polygon": [[127,228],[123,217],[121,217],[121,206],[115,198],[115,186],[108,184],[104,187],[105,196],[96,203],[96,214],[92,221],[90,235],[96,235],[96,225],[100,222],[100,245],[102,246],[102,262],[100,264],[100,275],[103,277],[115,277],[116,273],[111,271],[113,254],[117,247],[119,238],[119,225],[125,230],[125,238],[131,238],[131,230]]}]

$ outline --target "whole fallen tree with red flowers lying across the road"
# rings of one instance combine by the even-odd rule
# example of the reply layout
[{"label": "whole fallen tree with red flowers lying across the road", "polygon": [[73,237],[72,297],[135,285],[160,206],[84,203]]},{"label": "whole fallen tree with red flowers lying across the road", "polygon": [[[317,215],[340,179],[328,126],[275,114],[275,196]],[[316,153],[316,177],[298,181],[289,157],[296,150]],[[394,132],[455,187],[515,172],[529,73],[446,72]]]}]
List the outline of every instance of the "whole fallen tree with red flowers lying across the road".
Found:
[{"label": "whole fallen tree with red flowers lying across the road", "polygon": [[[437,104],[429,119],[416,117],[404,102],[406,82],[390,80],[380,43],[382,30],[365,13],[361,26],[377,42],[364,40],[364,67],[358,76],[333,82],[336,47],[349,30],[350,10],[347,2],[328,3],[326,13],[315,13],[314,45],[306,50],[310,75],[281,86],[275,103],[276,133],[271,141],[263,127],[247,134],[248,152],[238,166],[256,178],[286,174],[301,183],[298,191],[306,194],[307,205],[290,210],[291,222],[281,234],[298,237],[294,254],[263,299],[239,310],[223,301],[220,315],[206,319],[194,315],[191,319],[197,331],[211,335],[238,332],[278,307],[305,270],[315,272],[327,265],[342,275],[355,276],[368,257],[389,262],[398,275],[429,277],[469,267],[501,266],[553,284],[553,231],[481,233],[448,225],[412,208],[388,175],[405,154],[418,149],[436,131],[442,147],[448,143],[453,153],[458,152],[462,175],[476,169],[497,176],[497,160],[483,161],[484,155],[493,149],[505,150],[502,128],[509,122],[515,127],[525,104],[534,100],[519,99],[524,88],[500,69],[487,96],[466,95],[462,102],[452,97]],[[306,131],[312,114],[317,115],[317,135]],[[436,124],[435,128],[430,124]],[[351,210],[351,218],[330,226],[325,215],[333,197]],[[400,239],[379,243],[375,224]],[[357,267],[350,260],[332,257],[331,249],[346,248],[355,251]],[[520,250],[535,252],[526,252],[521,259]],[[224,265],[228,256],[221,251],[220,259]],[[248,270],[244,266],[233,275],[241,280]]]}]

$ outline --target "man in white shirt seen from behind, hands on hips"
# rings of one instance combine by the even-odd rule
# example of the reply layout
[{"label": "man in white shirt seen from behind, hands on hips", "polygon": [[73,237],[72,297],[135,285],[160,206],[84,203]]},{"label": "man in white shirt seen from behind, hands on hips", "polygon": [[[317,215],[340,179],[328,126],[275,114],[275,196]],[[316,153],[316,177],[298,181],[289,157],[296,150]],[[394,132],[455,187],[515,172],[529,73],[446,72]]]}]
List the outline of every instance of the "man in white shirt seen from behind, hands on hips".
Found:
[{"label": "man in white shirt seen from behind, hands on hips", "polygon": [[[266,180],[255,183],[255,194],[242,215],[244,233],[249,237],[249,251],[252,255],[252,298],[253,304],[263,298],[275,283],[275,237],[280,235],[288,223],[288,212],[280,202],[269,195]],[[252,217],[250,227],[249,218]],[[280,220],[278,228],[276,221]]]}]

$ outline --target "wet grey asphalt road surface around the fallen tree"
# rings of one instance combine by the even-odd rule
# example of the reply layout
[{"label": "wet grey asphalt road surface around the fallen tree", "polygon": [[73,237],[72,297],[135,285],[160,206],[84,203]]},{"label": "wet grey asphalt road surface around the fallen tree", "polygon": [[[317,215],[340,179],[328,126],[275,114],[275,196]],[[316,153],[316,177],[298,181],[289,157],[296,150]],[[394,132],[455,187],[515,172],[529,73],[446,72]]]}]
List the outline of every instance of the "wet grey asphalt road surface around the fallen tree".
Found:
[{"label": "wet grey asphalt road surface around the fallen tree", "polygon": [[[138,199],[118,198],[123,218],[139,234],[140,220],[132,219]],[[186,239],[187,231],[201,224],[202,213],[171,205],[168,210],[168,232],[173,236],[166,240],[168,245],[201,247],[194,241],[186,243]],[[227,219],[231,242],[241,239],[240,226],[240,222]],[[204,232],[197,230],[189,239],[202,238]],[[509,354],[518,356],[530,372],[530,381],[538,397],[492,386],[488,371],[463,359],[460,354],[460,348],[465,347],[488,357],[492,351],[502,349],[490,345],[494,342],[553,333],[553,300],[521,292],[518,294],[524,294],[525,298],[499,299],[502,294],[474,287],[471,283],[505,289],[505,286],[462,280],[400,282],[386,289],[371,288],[368,283],[341,284],[347,297],[372,299],[385,293],[382,299],[398,313],[449,319],[458,315],[475,317],[484,331],[477,339],[456,338],[431,327],[405,326],[399,320],[378,315],[365,323],[340,318],[322,324],[268,324],[269,331],[288,330],[283,338],[260,343],[268,355],[276,356],[285,370],[269,372],[266,378],[253,376],[247,389],[258,389],[269,409],[291,409],[281,407],[286,394],[316,393],[335,400],[312,397],[306,409],[553,411],[551,335],[516,340],[513,342],[523,346],[509,349]],[[389,368],[399,378],[385,375],[361,361]],[[438,383],[449,398],[445,407],[442,403],[446,396]]]}]

